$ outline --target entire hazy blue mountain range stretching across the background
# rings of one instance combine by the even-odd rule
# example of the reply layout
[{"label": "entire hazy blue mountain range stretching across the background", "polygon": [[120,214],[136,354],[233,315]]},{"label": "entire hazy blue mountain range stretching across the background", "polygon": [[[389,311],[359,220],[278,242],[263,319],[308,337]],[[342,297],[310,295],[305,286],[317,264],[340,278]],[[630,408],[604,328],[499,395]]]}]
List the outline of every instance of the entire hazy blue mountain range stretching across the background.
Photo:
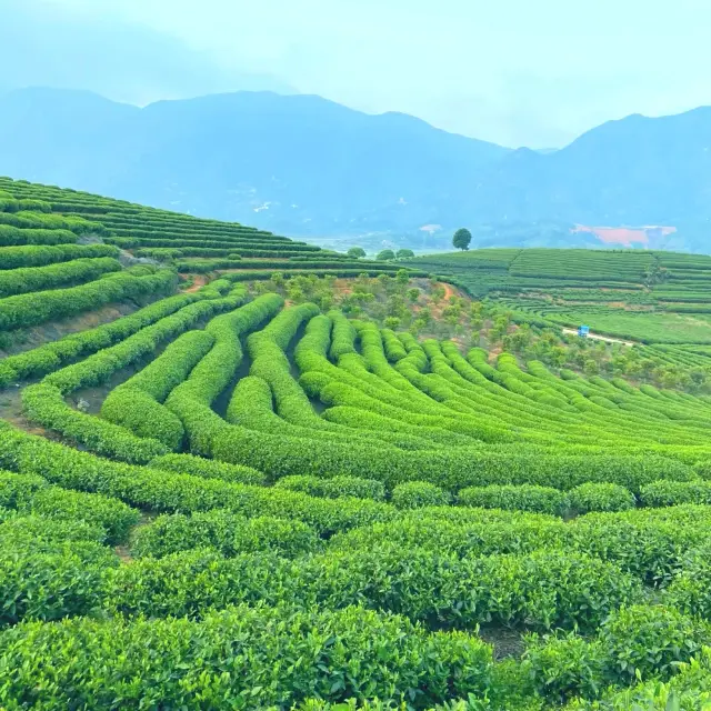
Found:
[{"label": "entire hazy blue mountain range stretching across the background", "polygon": [[[711,248],[705,107],[631,116],[561,150],[533,151],[312,96],[238,92],[139,109],[89,92],[23,89],[0,96],[0,134],[2,174],[306,238],[434,249],[469,226],[490,246],[623,243],[637,234],[631,243]],[[677,231],[600,238],[575,224]]]}]

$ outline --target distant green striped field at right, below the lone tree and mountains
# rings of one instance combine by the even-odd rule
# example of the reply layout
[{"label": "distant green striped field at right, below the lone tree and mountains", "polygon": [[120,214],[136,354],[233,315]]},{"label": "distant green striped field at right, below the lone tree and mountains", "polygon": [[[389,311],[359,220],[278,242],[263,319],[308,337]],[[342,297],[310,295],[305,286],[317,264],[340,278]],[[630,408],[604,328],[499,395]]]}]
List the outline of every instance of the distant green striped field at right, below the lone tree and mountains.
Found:
[{"label": "distant green striped field at right, below the lone tree and mountains", "polygon": [[473,250],[410,260],[551,324],[644,343],[710,343],[711,257],[639,250]]}]

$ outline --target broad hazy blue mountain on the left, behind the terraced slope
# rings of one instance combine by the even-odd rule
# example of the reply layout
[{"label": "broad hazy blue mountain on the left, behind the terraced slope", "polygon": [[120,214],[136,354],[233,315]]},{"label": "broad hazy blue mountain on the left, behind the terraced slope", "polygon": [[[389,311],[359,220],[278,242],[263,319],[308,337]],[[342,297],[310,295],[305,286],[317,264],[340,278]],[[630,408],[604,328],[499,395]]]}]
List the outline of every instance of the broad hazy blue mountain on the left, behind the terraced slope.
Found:
[{"label": "broad hazy blue mountain on the left, behind the terraced slope", "polygon": [[[159,101],[31,89],[0,98],[0,172],[292,233],[467,217],[508,149],[401,113],[270,92]],[[7,131],[7,132],[6,132]]]}]

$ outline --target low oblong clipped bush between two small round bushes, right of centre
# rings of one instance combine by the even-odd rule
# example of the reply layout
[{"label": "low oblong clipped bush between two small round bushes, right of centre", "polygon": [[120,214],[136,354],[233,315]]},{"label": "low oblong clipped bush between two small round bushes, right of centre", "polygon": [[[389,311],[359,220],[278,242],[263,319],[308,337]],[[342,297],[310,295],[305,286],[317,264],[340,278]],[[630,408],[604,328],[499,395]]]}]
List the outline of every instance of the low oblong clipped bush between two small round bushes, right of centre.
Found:
[{"label": "low oblong clipped bush between two small round bushes, right of centre", "polygon": [[465,507],[531,511],[552,515],[562,515],[569,507],[568,497],[562,491],[532,484],[468,487],[459,492],[457,501]]}]

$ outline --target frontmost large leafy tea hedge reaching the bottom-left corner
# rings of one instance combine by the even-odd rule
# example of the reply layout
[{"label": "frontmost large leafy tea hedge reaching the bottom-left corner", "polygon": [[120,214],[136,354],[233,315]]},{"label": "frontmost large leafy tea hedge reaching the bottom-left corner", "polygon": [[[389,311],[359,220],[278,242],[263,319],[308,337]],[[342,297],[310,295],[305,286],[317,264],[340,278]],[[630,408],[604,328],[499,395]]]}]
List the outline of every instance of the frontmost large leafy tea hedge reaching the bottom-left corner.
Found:
[{"label": "frontmost large leafy tea hedge reaching the bottom-left corner", "polygon": [[358,697],[430,709],[452,695],[483,694],[491,665],[491,648],[477,637],[430,634],[397,615],[242,605],[201,622],[18,627],[3,635],[0,704],[289,709],[309,697]]}]

